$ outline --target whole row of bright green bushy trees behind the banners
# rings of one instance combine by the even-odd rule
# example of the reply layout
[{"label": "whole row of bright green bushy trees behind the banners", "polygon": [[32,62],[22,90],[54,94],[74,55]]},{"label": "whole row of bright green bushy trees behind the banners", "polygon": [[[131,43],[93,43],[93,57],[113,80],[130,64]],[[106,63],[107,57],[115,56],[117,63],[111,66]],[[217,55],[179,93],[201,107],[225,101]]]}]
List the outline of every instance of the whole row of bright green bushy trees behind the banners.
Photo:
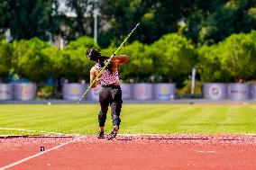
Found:
[{"label": "whole row of bright green bushy trees behind the banners", "polygon": [[[94,65],[86,51],[94,45],[87,36],[71,41],[64,49],[57,49],[37,38],[5,40],[0,44],[0,75],[10,71],[34,82],[65,77],[69,82],[89,81],[89,70]],[[110,57],[116,47],[102,49]],[[125,44],[119,54],[130,56],[125,67],[120,67],[123,82],[175,82],[182,86],[197,67],[203,82],[234,82],[237,77],[245,81],[255,79],[256,31],[233,34],[218,44],[195,49],[189,40],[177,33],[167,34],[147,45],[134,41]],[[5,76],[3,76],[5,75]]]}]

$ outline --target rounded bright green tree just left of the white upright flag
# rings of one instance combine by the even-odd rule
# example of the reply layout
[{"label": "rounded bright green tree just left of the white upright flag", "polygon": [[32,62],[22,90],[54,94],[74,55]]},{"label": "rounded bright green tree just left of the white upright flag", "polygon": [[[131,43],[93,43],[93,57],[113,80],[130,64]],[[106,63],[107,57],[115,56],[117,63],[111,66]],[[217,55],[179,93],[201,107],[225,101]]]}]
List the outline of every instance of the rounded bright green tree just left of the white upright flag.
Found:
[{"label": "rounded bright green tree just left of the white upright flag", "polygon": [[164,35],[151,45],[154,73],[164,82],[176,82],[180,87],[197,64],[197,53],[189,41],[176,34]]}]

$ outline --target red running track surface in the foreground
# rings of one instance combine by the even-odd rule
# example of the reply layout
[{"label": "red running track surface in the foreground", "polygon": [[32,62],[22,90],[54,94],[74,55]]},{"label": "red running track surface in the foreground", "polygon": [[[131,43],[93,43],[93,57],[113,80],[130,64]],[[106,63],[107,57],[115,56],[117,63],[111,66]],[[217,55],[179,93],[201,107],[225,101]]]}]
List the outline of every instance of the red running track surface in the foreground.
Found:
[{"label": "red running track surface in the foreground", "polygon": [[[2,137],[0,169],[36,154],[41,155],[7,169],[248,170],[256,167],[255,135],[119,135],[110,141],[95,136],[79,138]],[[46,149],[44,153],[40,152],[41,146]],[[49,151],[50,148],[54,149]]]}]

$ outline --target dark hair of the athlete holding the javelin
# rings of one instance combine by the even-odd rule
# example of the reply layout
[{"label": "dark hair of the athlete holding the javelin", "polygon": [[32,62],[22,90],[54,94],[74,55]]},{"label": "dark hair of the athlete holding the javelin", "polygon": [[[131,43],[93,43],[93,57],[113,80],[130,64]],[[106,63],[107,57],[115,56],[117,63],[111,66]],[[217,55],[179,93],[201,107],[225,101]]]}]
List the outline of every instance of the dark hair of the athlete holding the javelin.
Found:
[{"label": "dark hair of the athlete holding the javelin", "polygon": [[[105,64],[108,62],[108,59],[109,59],[108,57],[102,56],[101,52],[94,48],[87,49],[86,54],[87,54],[87,58],[99,63],[101,67],[105,67]],[[113,73],[111,64],[107,65],[105,69],[109,71],[111,74]]]}]

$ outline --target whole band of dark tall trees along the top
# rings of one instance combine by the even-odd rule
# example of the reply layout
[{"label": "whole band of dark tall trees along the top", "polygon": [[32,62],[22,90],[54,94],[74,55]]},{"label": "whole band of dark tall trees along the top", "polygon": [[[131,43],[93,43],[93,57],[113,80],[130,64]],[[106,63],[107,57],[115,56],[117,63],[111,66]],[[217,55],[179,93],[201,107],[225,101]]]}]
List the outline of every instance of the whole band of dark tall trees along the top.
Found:
[{"label": "whole band of dark tall trees along the top", "polygon": [[15,40],[63,37],[75,40],[93,35],[99,8],[98,42],[104,48],[120,40],[137,22],[142,26],[129,40],[151,44],[178,32],[196,44],[214,44],[233,33],[256,29],[256,1],[244,0],[66,0],[69,13],[59,11],[59,0],[0,1],[0,32],[10,28]]}]

